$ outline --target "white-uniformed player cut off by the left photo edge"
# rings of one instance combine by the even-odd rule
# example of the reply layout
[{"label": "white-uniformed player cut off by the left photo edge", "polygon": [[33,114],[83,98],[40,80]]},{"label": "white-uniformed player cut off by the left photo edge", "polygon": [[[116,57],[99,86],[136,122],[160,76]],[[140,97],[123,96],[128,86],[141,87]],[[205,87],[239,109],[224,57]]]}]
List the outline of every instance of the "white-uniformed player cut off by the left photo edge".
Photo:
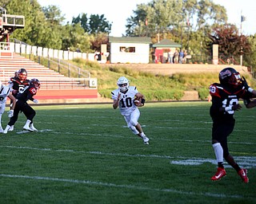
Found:
[{"label": "white-uniformed player cut off by the left photo edge", "polygon": [[13,105],[10,108],[10,111],[8,112],[8,117],[12,117],[12,116],[14,116],[14,108],[15,108],[15,105],[16,105],[16,99],[11,94],[10,88],[3,85],[2,81],[0,81],[0,133],[3,132],[3,129],[2,129],[2,114],[5,112],[7,97],[9,97],[10,100],[13,100]]}]

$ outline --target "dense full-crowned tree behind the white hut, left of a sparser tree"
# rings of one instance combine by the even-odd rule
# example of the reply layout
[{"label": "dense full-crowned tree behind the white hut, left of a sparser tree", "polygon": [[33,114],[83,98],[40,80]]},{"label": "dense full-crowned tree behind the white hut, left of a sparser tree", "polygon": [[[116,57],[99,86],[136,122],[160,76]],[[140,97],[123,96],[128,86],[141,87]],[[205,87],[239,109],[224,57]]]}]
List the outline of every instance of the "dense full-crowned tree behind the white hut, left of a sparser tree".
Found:
[{"label": "dense full-crowned tree behind the white hut, left of a sparser tree", "polygon": [[[175,3],[177,2],[177,3]],[[127,36],[154,36],[169,32],[182,22],[182,1],[156,0],[137,5],[134,16],[127,18]]]}]

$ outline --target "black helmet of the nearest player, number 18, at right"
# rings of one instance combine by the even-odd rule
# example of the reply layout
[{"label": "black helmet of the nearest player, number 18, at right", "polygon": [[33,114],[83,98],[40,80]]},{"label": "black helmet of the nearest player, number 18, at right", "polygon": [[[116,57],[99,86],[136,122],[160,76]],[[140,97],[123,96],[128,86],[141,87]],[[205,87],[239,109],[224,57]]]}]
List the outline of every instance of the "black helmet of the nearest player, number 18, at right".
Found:
[{"label": "black helmet of the nearest player, number 18, at right", "polygon": [[231,87],[237,87],[242,84],[242,78],[237,70],[231,67],[222,69],[218,75],[218,79],[221,84],[229,85]]}]

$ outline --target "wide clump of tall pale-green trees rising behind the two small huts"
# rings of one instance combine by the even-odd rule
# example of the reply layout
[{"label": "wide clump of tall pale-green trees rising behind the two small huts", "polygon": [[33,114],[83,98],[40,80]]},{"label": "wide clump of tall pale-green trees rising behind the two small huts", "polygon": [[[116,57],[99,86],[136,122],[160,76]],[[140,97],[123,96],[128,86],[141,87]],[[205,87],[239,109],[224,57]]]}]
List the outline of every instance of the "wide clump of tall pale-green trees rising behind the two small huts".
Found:
[{"label": "wide clump of tall pale-green trees rising behind the two small huts", "polygon": [[187,26],[196,30],[214,23],[222,25],[226,19],[226,9],[211,0],[152,0],[139,4],[134,15],[127,18],[126,35],[154,37],[156,33],[173,33],[181,36]]}]

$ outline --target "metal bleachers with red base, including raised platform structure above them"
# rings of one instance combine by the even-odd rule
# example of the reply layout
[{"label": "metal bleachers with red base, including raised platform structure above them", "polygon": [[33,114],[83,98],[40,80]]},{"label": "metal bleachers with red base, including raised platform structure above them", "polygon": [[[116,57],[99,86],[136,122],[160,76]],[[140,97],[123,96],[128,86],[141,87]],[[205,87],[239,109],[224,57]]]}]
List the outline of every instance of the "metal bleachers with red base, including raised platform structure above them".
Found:
[{"label": "metal bleachers with red base, including raised platform structure above them", "polygon": [[37,93],[41,104],[98,100],[97,81],[94,83],[96,79],[65,77],[15,53],[10,47],[10,34],[15,29],[24,27],[24,16],[6,14],[6,10],[0,6],[0,80],[3,84],[8,84],[10,77],[14,77],[18,69],[26,69],[28,79],[37,78],[41,82],[40,91]]}]

